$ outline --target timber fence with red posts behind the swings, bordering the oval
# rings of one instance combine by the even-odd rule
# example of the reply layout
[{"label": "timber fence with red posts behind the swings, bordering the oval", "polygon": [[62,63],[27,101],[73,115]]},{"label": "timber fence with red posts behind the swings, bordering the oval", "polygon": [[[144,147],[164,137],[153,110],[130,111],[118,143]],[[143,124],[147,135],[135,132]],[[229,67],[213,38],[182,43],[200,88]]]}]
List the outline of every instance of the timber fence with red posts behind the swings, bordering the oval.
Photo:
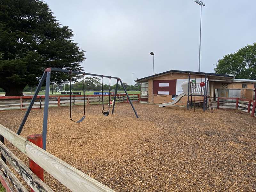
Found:
[{"label": "timber fence with red posts behind the swings, bordering the oval", "polygon": [[[132,102],[140,102],[140,94],[128,94]],[[114,94],[110,95],[110,100],[114,100]],[[0,97],[0,110],[11,110],[20,109],[25,110],[33,96],[1,96]],[[72,95],[72,106],[83,105],[84,104],[83,95]],[[103,95],[103,102],[108,104],[108,95]],[[44,108],[45,96],[37,96],[32,109],[42,109]],[[49,107],[61,107],[70,105],[69,95],[50,95],[49,97]],[[116,94],[116,103],[128,103],[128,97],[126,94],[118,93]],[[85,104],[102,104],[102,95],[85,95]]]}]

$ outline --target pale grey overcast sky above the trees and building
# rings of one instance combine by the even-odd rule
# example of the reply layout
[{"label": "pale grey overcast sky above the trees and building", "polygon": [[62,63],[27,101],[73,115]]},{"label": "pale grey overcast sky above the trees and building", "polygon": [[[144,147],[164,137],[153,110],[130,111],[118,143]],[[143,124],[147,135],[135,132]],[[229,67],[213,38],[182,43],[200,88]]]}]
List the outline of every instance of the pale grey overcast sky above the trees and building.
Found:
[{"label": "pale grey overcast sky above the trees and building", "polygon": [[[118,76],[132,84],[132,72],[134,80],[152,75],[149,52],[155,53],[154,73],[198,71],[200,6],[194,0],[45,2],[86,51],[85,72]],[[225,54],[256,42],[256,1],[204,3],[201,71],[214,72]]]}]

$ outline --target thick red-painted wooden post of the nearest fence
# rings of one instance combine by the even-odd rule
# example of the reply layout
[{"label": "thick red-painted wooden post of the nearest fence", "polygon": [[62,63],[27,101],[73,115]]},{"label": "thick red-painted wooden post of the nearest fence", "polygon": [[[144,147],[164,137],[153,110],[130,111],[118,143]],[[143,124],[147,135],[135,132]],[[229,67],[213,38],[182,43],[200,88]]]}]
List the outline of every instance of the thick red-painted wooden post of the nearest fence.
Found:
[{"label": "thick red-painted wooden post of the nearest fence", "polygon": [[[42,134],[34,134],[34,135],[28,135],[28,140],[31,143],[34,143],[36,146],[43,148],[43,137]],[[39,179],[44,181],[44,170],[36,164],[34,161],[29,159],[29,169],[36,174]],[[34,190],[31,188],[31,192],[34,192]]]}]

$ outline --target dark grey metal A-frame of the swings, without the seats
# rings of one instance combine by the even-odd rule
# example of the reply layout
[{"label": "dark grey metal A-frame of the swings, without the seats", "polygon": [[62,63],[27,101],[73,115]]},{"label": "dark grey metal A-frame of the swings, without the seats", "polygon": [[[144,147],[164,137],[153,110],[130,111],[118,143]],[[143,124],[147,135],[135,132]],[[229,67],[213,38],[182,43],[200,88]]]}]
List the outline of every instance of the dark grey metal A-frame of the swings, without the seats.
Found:
[{"label": "dark grey metal A-frame of the swings, without the seats", "polygon": [[[92,74],[92,73],[85,73],[85,72],[79,72],[79,71],[72,71],[72,70],[67,70],[67,69],[59,69],[59,68],[46,68],[44,70],[44,74],[43,76],[41,77],[40,79],[40,82],[38,84],[38,86],[36,87],[36,91],[35,91],[35,94],[32,98],[32,100],[30,101],[29,103],[29,106],[28,106],[28,109],[25,113],[25,116],[23,117],[23,120],[20,124],[20,127],[17,131],[17,134],[20,135],[23,127],[24,127],[24,124],[26,123],[26,120],[28,118],[28,115],[33,107],[33,104],[36,100],[36,97],[44,83],[44,80],[46,79],[46,85],[45,85],[45,100],[44,100],[44,118],[43,118],[43,149],[45,150],[46,149],[46,136],[47,136],[47,124],[48,124],[48,108],[49,108],[49,93],[50,93],[50,79],[51,79],[51,71],[57,71],[57,72],[64,72],[64,73],[74,73],[74,74],[81,74],[81,75],[88,75],[88,76],[98,76],[98,77],[107,77],[107,78],[110,78],[110,76],[105,76],[105,75],[98,75],[98,74]],[[116,103],[116,93],[117,93],[117,88],[118,88],[118,82],[120,81],[122,87],[124,88],[124,92],[129,100],[129,103],[131,104],[132,106],[132,109],[134,111],[134,114],[137,118],[139,118],[131,100],[130,100],[130,97],[124,87],[124,84],[122,82],[122,80],[119,78],[119,77],[113,77],[111,76],[111,78],[113,79],[117,79],[116,81],[116,91],[115,91],[115,96],[114,96],[114,105],[113,105],[113,108],[112,108],[112,115],[114,114],[114,110],[115,110],[115,103]]]}]

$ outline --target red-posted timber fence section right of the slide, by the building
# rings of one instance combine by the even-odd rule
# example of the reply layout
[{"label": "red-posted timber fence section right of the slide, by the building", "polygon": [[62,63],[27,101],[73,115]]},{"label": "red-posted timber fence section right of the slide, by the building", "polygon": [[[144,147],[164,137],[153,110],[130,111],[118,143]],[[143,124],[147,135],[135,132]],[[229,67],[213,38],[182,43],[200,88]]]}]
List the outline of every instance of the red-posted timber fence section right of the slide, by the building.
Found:
[{"label": "red-posted timber fence section right of the slide, by the building", "polygon": [[218,97],[217,108],[240,109],[255,116],[256,100],[238,97]]}]

